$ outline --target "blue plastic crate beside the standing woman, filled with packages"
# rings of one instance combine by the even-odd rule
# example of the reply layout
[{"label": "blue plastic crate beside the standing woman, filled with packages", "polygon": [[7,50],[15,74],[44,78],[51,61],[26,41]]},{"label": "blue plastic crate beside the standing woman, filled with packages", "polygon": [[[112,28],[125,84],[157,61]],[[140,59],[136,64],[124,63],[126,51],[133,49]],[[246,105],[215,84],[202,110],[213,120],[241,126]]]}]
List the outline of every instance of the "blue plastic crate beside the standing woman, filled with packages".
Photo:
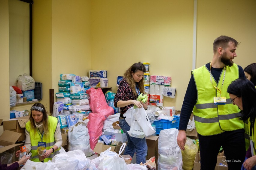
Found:
[{"label": "blue plastic crate beside the standing woman, filled with packages", "polygon": [[156,134],[159,135],[160,131],[163,129],[176,128],[178,129],[180,123],[180,116],[173,116],[173,120],[169,121],[166,119],[155,120],[154,125],[156,125]]}]

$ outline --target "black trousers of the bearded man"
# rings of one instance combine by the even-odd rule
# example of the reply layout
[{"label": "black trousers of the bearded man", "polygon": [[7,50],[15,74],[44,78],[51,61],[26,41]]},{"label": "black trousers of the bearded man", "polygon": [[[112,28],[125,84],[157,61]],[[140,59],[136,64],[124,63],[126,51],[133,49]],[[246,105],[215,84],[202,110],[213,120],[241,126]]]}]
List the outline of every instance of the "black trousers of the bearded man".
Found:
[{"label": "black trousers of the bearded man", "polygon": [[245,159],[244,129],[212,136],[198,134],[201,170],[214,170],[222,146],[229,170],[240,170]]}]

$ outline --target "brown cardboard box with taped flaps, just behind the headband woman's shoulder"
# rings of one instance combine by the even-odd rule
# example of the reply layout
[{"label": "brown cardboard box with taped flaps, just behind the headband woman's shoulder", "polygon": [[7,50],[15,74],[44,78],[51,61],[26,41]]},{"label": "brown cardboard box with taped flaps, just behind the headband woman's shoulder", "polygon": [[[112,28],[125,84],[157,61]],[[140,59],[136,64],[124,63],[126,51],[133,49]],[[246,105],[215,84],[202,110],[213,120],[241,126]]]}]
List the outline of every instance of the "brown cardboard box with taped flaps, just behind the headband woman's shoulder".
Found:
[{"label": "brown cardboard box with taped flaps, just behind the headband woman's shoulder", "polygon": [[11,130],[13,132],[21,133],[19,139],[17,139],[17,142],[23,141],[26,139],[25,127],[28,121],[29,121],[29,116],[23,116],[20,118],[14,118],[14,119],[9,119],[7,121],[3,121],[4,130]]}]

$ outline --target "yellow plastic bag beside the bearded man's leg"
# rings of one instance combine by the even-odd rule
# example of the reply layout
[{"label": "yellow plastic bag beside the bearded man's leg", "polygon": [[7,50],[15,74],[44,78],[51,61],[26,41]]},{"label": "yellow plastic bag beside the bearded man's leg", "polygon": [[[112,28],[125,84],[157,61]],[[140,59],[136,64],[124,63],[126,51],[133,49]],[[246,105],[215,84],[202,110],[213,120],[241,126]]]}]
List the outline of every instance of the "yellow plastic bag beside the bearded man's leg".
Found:
[{"label": "yellow plastic bag beside the bearded man's leg", "polygon": [[193,170],[194,168],[194,160],[198,152],[198,146],[193,143],[193,140],[187,137],[187,141],[185,144],[185,150],[181,151],[183,170]]}]

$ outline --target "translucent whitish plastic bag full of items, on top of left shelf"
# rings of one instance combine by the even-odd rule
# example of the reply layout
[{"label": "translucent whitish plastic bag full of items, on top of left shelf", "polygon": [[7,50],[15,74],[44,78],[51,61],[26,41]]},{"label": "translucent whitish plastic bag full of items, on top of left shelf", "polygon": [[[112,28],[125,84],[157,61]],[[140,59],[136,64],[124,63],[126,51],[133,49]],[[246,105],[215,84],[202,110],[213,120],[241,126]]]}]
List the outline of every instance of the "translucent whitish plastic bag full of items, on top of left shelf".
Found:
[{"label": "translucent whitish plastic bag full of items, on top of left shelf", "polygon": [[23,92],[35,89],[35,80],[28,74],[19,75],[16,81],[17,87]]}]

